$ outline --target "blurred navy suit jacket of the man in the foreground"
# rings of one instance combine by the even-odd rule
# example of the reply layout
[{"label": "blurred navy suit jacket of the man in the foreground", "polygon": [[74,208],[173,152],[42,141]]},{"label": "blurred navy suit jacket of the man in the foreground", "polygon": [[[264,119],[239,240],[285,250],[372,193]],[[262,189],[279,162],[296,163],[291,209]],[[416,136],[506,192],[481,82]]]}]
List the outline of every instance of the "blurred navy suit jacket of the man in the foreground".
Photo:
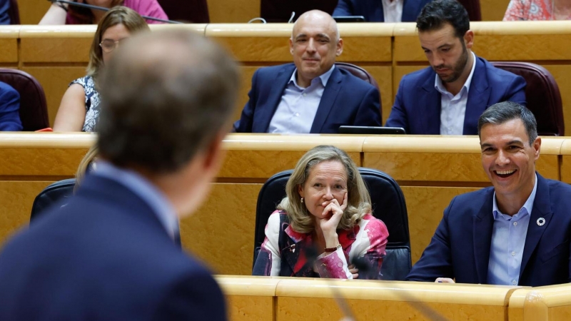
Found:
[{"label": "blurred navy suit jacket of the man in the foreground", "polygon": [[146,202],[87,175],[0,254],[0,320],[226,320],[208,271]]}]

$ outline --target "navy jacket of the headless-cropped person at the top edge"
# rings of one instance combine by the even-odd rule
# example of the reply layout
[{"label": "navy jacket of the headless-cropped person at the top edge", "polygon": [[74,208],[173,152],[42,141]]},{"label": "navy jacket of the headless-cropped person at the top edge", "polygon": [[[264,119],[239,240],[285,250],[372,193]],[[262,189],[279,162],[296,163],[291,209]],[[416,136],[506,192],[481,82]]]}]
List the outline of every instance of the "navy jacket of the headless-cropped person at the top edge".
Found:
[{"label": "navy jacket of the headless-cropped person at the top edge", "polygon": [[[420,10],[432,0],[405,0],[403,22],[414,22]],[[368,22],[385,22],[383,1],[380,0],[339,0],[333,16],[364,16]]]}]

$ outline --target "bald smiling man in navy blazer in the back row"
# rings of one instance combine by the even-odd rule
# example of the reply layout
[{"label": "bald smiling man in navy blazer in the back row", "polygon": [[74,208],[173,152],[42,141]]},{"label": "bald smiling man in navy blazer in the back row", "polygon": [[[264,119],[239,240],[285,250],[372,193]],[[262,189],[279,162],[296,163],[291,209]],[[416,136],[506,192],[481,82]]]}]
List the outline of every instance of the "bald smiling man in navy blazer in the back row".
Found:
[{"label": "bald smiling man in navy blazer in the back row", "polygon": [[343,39],[329,14],[313,10],[295,21],[293,62],[260,68],[238,133],[338,133],[339,126],[381,126],[380,94],[335,66]]}]

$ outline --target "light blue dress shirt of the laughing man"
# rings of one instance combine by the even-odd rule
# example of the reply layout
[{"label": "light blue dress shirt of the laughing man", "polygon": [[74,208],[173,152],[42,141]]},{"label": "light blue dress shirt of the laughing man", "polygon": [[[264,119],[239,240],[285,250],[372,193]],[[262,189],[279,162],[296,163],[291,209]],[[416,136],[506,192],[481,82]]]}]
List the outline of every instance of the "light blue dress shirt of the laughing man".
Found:
[{"label": "light blue dress shirt of the laughing man", "polygon": [[496,285],[517,285],[520,281],[523,247],[527,226],[530,225],[530,215],[537,191],[537,175],[535,185],[522,208],[517,214],[510,216],[497,208],[494,192],[494,227],[492,230],[492,246],[490,261],[487,265],[487,283]]}]

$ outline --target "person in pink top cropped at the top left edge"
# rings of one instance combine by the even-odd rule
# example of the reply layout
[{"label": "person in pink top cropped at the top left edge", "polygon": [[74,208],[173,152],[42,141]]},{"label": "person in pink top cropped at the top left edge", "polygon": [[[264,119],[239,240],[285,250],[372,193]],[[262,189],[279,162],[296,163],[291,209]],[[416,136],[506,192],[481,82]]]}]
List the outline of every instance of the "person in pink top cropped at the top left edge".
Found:
[{"label": "person in pink top cropped at the top left edge", "polygon": [[[113,6],[126,6],[133,9],[141,16],[168,19],[165,11],[157,0],[72,0],[81,4],[113,8]],[[98,24],[105,11],[69,6],[54,2],[41,19],[39,24]],[[160,21],[146,19],[148,24],[161,24]]]}]

